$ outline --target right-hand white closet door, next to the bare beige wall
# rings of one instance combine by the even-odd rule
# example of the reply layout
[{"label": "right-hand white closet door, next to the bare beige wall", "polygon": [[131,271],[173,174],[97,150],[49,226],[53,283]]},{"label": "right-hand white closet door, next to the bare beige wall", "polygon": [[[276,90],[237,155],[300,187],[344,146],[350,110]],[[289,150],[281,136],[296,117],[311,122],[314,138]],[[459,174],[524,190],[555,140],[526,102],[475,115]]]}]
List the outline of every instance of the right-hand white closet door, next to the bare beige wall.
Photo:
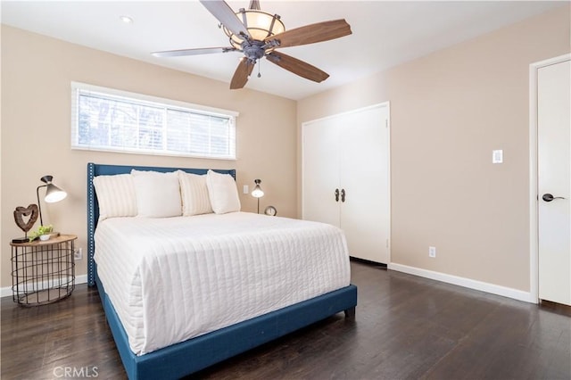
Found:
[{"label": "right-hand white closet door, next to the bare beige wall", "polygon": [[375,106],[343,115],[341,227],[352,257],[389,262],[388,112]]}]

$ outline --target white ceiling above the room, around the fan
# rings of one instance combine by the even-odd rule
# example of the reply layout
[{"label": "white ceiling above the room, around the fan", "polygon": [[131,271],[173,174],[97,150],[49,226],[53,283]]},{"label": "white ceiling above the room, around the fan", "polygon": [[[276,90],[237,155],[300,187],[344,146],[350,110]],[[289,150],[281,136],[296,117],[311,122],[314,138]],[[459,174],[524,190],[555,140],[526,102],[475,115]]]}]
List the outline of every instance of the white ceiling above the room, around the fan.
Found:
[{"label": "white ceiling above the room, around the fan", "polygon": [[[235,11],[248,7],[245,0],[228,4]],[[564,4],[567,1],[261,0],[261,9],[279,14],[286,29],[345,19],[352,26],[352,35],[282,50],[329,73],[324,82],[311,82],[261,60],[246,88],[302,99]],[[227,53],[157,58],[150,54],[229,45],[218,21],[196,0],[3,0],[1,5],[4,24],[226,83],[242,56]],[[121,15],[134,22],[123,23]],[[257,78],[258,67],[261,78]]]}]

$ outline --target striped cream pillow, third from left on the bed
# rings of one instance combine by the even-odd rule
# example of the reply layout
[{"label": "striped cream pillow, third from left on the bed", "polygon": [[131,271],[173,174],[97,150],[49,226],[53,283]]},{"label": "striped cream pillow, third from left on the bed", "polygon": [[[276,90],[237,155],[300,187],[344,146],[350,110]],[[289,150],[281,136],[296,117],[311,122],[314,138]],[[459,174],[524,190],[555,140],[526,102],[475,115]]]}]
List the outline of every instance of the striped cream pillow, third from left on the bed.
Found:
[{"label": "striped cream pillow, third from left on the bed", "polygon": [[182,215],[184,217],[212,212],[211,198],[208,195],[208,186],[206,186],[206,175],[201,176],[178,170],[178,181],[180,181]]}]

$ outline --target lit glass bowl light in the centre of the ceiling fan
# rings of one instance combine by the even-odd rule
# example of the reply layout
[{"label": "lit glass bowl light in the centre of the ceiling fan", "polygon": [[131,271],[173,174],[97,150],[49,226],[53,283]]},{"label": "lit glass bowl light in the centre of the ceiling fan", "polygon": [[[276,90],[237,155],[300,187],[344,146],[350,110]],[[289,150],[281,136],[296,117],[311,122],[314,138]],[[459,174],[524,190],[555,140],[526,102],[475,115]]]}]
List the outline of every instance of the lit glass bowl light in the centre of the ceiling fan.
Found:
[{"label": "lit glass bowl light in the centre of the ceiling fan", "polygon": [[[277,14],[271,14],[255,9],[241,9],[236,12],[236,16],[243,21],[244,27],[248,29],[248,33],[253,40],[263,41],[264,38],[283,33],[285,31],[284,23],[279,20]],[[224,33],[230,37],[230,44],[238,50],[242,50],[244,37],[236,36],[230,30],[223,26]]]}]

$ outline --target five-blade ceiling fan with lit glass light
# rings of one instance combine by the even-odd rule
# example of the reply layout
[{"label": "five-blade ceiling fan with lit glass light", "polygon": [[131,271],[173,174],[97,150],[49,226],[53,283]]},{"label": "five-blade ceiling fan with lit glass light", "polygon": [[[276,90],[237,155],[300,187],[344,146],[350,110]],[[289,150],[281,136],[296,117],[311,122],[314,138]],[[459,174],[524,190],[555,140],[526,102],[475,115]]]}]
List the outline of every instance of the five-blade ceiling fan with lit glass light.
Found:
[{"label": "five-blade ceiling fan with lit glass light", "polygon": [[352,33],[351,26],[344,20],[323,21],[285,30],[284,23],[277,14],[261,11],[259,0],[251,0],[247,10],[242,8],[238,12],[234,12],[224,0],[200,0],[200,2],[220,21],[220,27],[230,39],[230,46],[169,50],[152,54],[157,57],[176,57],[241,52],[244,57],[234,72],[230,89],[244,87],[254,65],[263,57],[282,69],[319,83],[329,77],[327,72],[277,52],[276,49],[328,41]]}]

